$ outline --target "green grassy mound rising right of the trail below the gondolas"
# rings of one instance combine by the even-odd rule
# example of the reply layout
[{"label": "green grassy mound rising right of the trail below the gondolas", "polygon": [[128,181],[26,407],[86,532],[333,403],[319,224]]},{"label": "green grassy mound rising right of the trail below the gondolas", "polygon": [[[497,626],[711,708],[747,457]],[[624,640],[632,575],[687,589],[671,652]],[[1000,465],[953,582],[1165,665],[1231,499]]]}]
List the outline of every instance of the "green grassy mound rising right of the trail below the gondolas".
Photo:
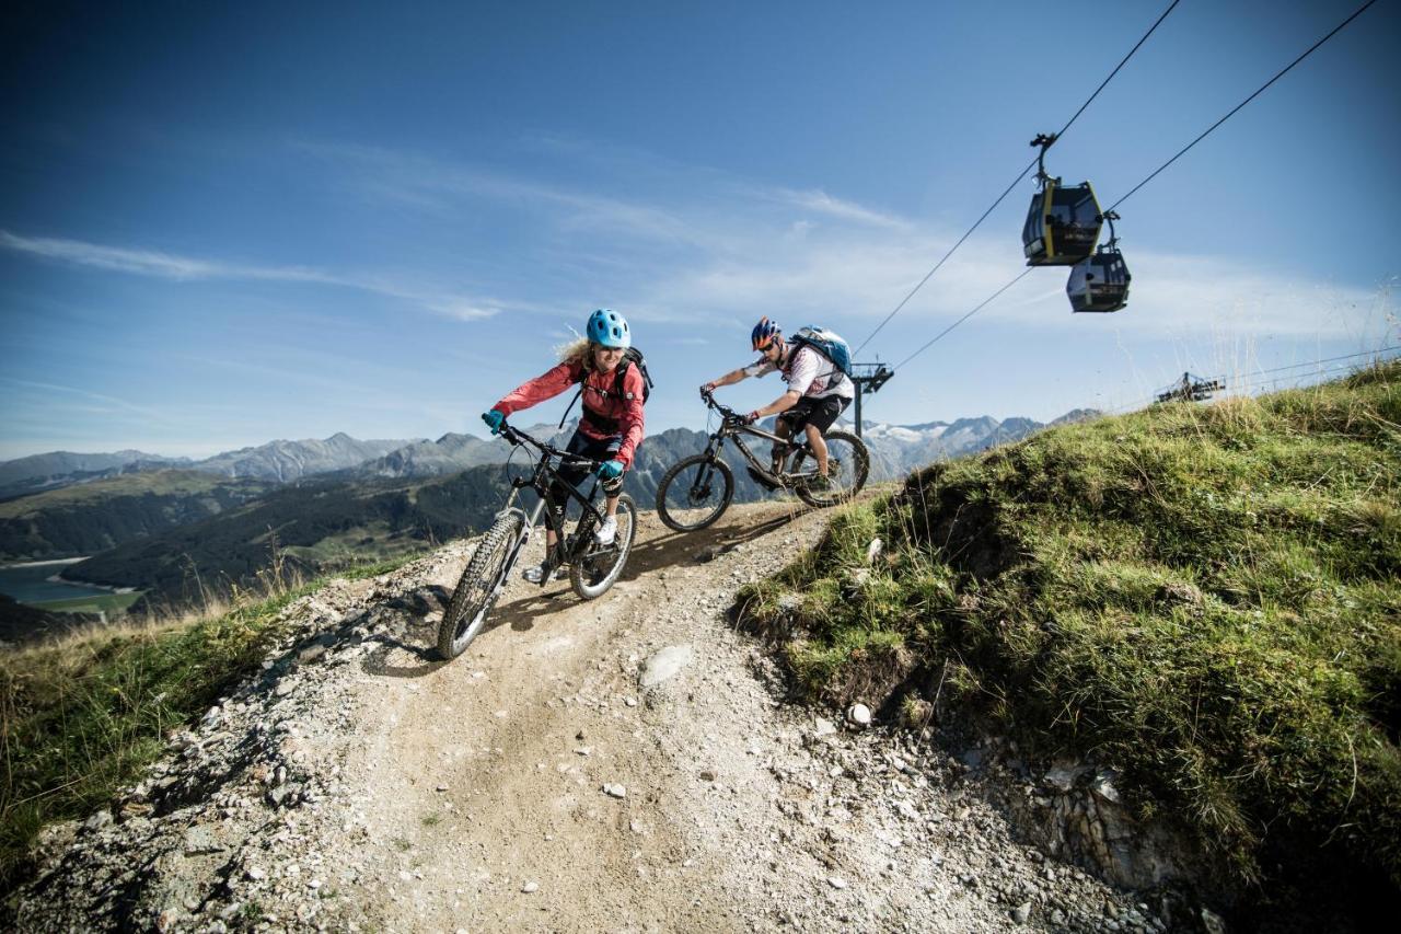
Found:
[{"label": "green grassy mound rising right of the trail below the gondolas", "polygon": [[1398,494],[1391,362],[926,468],[745,618],[813,698],[937,700],[1115,764],[1243,879],[1290,839],[1401,884]]}]

